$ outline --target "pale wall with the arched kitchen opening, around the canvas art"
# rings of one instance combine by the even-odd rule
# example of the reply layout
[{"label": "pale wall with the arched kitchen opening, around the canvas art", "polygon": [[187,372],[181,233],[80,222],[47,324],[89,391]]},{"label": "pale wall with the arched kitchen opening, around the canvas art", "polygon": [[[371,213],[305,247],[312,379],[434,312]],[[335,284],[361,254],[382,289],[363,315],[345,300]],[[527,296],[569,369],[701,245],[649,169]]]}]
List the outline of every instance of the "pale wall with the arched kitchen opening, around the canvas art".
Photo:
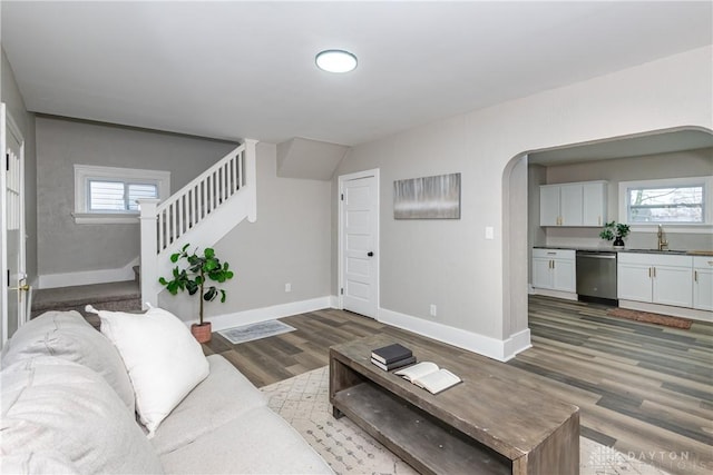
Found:
[{"label": "pale wall with the arched kitchen opening, around the canvas art", "polygon": [[[527,313],[510,303],[527,291],[517,277],[527,275],[527,246],[512,247],[504,229],[508,221],[527,239],[527,207],[506,207],[504,196],[527,189],[527,174],[508,178],[510,160],[673,127],[712,129],[712,57],[711,47],[692,50],[354,147],[335,175],[381,169],[381,307],[428,320],[437,304],[439,323],[502,342],[525,330]],[[458,171],[460,220],[393,219],[393,180]]]}]

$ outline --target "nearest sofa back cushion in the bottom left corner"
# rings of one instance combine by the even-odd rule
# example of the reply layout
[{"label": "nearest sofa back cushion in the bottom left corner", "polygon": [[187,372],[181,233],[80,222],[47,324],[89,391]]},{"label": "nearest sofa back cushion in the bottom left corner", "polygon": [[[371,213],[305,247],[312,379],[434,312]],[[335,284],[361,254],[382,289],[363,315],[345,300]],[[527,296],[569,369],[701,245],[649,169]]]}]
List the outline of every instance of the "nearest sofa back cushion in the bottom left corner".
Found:
[{"label": "nearest sofa back cushion in the bottom left corner", "polygon": [[91,369],[41,356],[9,366],[0,378],[3,457],[71,464],[78,473],[163,473],[134,416]]}]

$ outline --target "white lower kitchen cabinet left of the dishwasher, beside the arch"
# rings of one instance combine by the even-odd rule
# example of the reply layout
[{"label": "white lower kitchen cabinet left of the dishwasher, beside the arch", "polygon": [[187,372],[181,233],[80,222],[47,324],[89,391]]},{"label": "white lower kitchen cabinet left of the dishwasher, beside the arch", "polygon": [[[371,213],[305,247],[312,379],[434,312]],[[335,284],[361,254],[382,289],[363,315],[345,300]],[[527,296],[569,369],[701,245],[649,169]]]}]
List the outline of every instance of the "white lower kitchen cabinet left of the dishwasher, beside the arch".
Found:
[{"label": "white lower kitchen cabinet left of the dishwasher, beside the arch", "polygon": [[572,249],[533,249],[533,287],[576,291],[575,251]]}]

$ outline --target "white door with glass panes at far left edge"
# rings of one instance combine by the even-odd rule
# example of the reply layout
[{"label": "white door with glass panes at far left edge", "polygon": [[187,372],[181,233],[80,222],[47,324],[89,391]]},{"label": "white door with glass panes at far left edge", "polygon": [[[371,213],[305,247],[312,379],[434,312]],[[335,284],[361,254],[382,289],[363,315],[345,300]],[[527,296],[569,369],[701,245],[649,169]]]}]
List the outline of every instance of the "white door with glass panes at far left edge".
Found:
[{"label": "white door with glass panes at far left edge", "polygon": [[25,324],[29,287],[25,267],[25,142],[2,107],[2,343]]}]

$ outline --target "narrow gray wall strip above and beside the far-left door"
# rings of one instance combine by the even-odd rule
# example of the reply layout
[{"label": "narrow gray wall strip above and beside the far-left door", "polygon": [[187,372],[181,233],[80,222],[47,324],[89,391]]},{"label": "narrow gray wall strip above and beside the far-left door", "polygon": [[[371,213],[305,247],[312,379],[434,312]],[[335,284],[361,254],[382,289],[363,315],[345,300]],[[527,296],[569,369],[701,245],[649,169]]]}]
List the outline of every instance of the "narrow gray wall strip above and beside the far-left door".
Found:
[{"label": "narrow gray wall strip above and beside the far-left door", "polygon": [[37,152],[35,146],[35,115],[28,112],[18,88],[12,67],[2,50],[2,102],[8,107],[25,139],[25,234],[28,281],[35,284],[37,266]]}]

